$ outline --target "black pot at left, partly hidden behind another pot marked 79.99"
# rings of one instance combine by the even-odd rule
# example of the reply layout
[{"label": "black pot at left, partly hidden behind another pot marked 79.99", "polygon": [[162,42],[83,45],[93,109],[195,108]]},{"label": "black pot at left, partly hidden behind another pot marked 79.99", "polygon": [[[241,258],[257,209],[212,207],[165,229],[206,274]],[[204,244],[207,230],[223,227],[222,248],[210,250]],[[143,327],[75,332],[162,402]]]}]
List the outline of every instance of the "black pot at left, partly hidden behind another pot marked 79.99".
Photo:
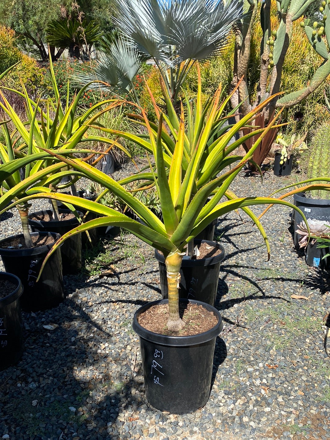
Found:
[{"label": "black pot at left, partly hidden behind another pot marked 79.99", "polygon": [[[31,226],[32,231],[50,231],[56,232],[57,234],[64,235],[66,232],[71,231],[74,227],[79,225],[79,221],[76,217],[69,220],[32,220],[33,216],[41,216],[43,213],[47,213],[49,216],[52,216],[52,211],[47,209],[46,211],[38,211],[36,213],[32,213],[29,215],[29,225]],[[71,213],[69,209],[59,209],[58,212],[62,213]],[[78,211],[79,213],[79,211]],[[83,214],[80,213],[82,216]],[[61,246],[61,255],[62,255],[62,265],[63,265],[63,275],[66,274],[75,274],[80,271],[82,266],[82,239],[81,233],[72,235],[67,238],[65,242]]]}]

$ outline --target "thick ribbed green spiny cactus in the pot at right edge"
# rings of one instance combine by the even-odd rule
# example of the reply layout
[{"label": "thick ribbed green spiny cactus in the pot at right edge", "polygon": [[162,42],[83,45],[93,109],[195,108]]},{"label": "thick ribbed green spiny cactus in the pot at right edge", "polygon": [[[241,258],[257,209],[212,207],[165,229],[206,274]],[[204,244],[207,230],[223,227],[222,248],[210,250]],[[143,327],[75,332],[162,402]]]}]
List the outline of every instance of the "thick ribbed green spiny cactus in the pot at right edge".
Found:
[{"label": "thick ribbed green spiny cactus in the pot at right edge", "polygon": [[[316,128],[311,140],[310,152],[308,178],[330,176],[330,124],[328,122]],[[329,191],[312,191],[312,196],[327,199]]]}]

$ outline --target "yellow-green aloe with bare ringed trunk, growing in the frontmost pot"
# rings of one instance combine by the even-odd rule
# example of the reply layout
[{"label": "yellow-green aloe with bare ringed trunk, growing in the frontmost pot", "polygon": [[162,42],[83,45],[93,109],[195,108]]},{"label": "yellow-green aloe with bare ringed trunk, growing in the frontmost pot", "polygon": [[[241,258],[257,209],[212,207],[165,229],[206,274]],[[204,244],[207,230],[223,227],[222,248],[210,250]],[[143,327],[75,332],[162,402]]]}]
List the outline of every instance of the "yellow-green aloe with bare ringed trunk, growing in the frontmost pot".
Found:
[{"label": "yellow-green aloe with bare ringed trunk, growing in the frontmost pot", "polygon": [[[236,157],[236,163],[233,163],[232,159],[227,156],[231,148],[234,148],[228,146],[229,140],[244,124],[250,123],[250,120],[257,111],[261,110],[262,106],[251,111],[246,118],[236,123],[228,132],[223,133],[218,141],[211,144],[212,148],[207,148],[207,140],[210,138],[212,128],[214,128],[214,114],[217,113],[219,107],[218,93],[219,91],[215,95],[216,99],[205,109],[205,112],[203,112],[198,105],[193,110],[193,113],[195,114],[196,112],[197,114],[196,120],[199,121],[199,123],[193,126],[191,125],[189,132],[187,131],[187,125],[189,124],[187,121],[186,125],[183,106],[181,106],[179,126],[177,129],[173,128],[173,133],[171,134],[173,136],[172,151],[167,148],[169,140],[164,142],[164,139],[168,139],[169,137],[167,128],[165,128],[165,122],[167,122],[166,116],[160,113],[158,125],[153,127],[149,123],[144,110],[141,109],[144,124],[148,131],[148,138],[145,139],[145,142],[151,145],[156,165],[155,169],[151,167],[150,172],[141,172],[134,178],[141,180],[151,180],[152,178],[160,199],[163,220],[158,219],[138,198],[134,197],[130,191],[113,180],[110,176],[105,175],[81,159],[64,158],[61,155],[51,152],[51,150],[48,150],[49,154],[57,159],[61,159],[63,163],[72,167],[77,172],[80,172],[91,181],[102,184],[107,191],[111,191],[112,194],[134,211],[143,221],[143,224],[110,207],[88,200],[82,200],[69,194],[41,193],[23,199],[24,201],[30,198],[52,198],[54,200],[74,204],[103,216],[80,225],[63,235],[58,241],[58,244],[53,248],[54,250],[66,238],[73,234],[78,234],[81,231],[86,231],[93,227],[110,225],[123,227],[138,238],[141,238],[144,242],[160,250],[165,257],[165,265],[167,268],[169,301],[169,320],[167,326],[170,330],[174,331],[180,330],[184,325],[179,316],[178,284],[180,282],[181,262],[185,255],[186,246],[196,235],[218,216],[236,209],[247,209],[250,205],[279,203],[297,209],[291,203],[282,200],[282,198],[237,197],[229,190],[230,184],[247,161],[249,161],[254,149],[257,148],[263,136],[272,129],[275,120],[273,120],[267,128],[263,129],[261,136],[257,139],[250,151],[244,157]],[[272,99],[272,97],[269,99]],[[266,104],[267,101],[265,102],[265,105]],[[188,120],[189,117],[193,119],[192,115],[189,116],[188,113]],[[254,133],[251,134],[251,136],[253,135]],[[138,138],[138,142],[141,142],[140,138]],[[190,153],[188,154],[188,152]],[[210,158],[210,162],[206,159],[206,165],[200,170],[199,165],[206,156]],[[215,169],[222,170],[219,176],[214,175]],[[196,188],[197,176],[197,181],[199,181],[198,188]],[[328,187],[330,187],[330,185],[328,185]],[[309,188],[309,186],[307,188]],[[306,188],[295,191],[304,189]],[[214,194],[214,196],[207,202],[211,194]],[[223,196],[228,200],[222,201]],[[297,211],[301,213],[301,216],[305,220],[305,216],[301,210],[297,209]],[[255,216],[252,218],[263,232],[263,237],[269,249],[267,237],[261,224]],[[53,249],[51,252],[54,252]],[[48,256],[49,255],[51,255],[51,253],[49,253]]]}]

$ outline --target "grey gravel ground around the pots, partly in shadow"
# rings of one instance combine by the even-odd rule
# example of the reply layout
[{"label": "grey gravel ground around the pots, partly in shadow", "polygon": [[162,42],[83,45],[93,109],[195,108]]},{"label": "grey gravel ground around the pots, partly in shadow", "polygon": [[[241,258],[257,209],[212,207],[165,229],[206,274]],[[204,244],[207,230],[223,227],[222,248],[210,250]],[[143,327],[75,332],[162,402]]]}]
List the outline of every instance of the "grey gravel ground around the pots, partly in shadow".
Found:
[{"label": "grey gravel ground around the pots, partly in shadow", "polygon": [[[259,177],[239,176],[232,190],[267,195],[289,179],[268,174],[261,183]],[[23,313],[23,358],[0,372],[0,436],[329,439],[330,359],[324,347],[329,276],[308,267],[292,249],[290,209],[274,206],[263,224],[272,250],[268,262],[263,239],[244,213],[229,213],[218,222],[216,240],[226,258],[216,307],[224,329],[205,407],[168,414],[145,399],[131,323],[141,304],[160,298],[158,264],[149,246],[125,235],[112,242],[121,255],[114,276],[66,276],[62,304]],[[11,235],[17,225],[14,211],[4,215],[1,236]],[[58,327],[45,329],[49,323]]]}]

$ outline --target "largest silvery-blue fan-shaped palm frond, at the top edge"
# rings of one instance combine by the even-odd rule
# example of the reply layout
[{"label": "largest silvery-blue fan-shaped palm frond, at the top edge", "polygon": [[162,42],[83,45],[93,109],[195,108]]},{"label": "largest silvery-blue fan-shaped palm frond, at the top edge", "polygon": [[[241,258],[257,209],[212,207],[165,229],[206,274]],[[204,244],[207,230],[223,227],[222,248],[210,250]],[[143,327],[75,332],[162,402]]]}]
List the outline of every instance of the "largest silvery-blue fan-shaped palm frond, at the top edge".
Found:
[{"label": "largest silvery-blue fan-shaped palm frond, at the top edge", "polygon": [[243,1],[116,0],[116,24],[139,50],[171,65],[205,60],[226,43],[231,26],[243,14]]}]

